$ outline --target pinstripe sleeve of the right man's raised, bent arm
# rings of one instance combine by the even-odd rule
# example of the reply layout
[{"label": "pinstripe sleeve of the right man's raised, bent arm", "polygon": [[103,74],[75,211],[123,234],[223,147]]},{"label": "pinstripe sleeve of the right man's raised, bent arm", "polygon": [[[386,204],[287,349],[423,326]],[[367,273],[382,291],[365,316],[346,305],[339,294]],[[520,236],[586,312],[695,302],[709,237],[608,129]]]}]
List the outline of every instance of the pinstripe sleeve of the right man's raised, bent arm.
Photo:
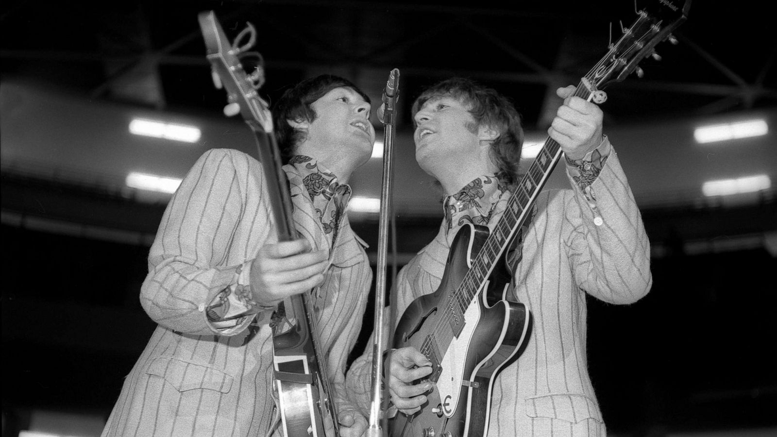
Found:
[{"label": "pinstripe sleeve of the right man's raised, bent arm", "polygon": [[565,198],[566,250],[575,282],[605,302],[636,302],[652,285],[650,242],[614,149],[591,188],[601,225],[579,188]]}]

